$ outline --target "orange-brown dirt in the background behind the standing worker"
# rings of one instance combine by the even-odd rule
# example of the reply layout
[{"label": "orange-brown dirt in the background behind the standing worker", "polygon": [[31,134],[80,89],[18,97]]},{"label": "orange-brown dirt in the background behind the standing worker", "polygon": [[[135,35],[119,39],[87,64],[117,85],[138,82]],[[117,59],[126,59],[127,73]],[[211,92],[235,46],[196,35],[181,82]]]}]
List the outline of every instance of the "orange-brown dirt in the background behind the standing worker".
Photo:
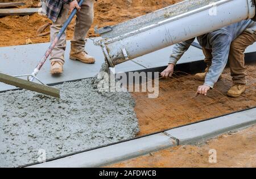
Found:
[{"label": "orange-brown dirt in the background behind the standing worker", "polygon": [[[158,10],[159,8],[170,6],[181,0],[98,0],[94,7],[94,23],[88,33],[88,37],[97,36],[94,27],[105,27],[114,25],[129,19]],[[24,7],[36,7],[39,0],[25,0]],[[23,7],[21,7],[23,8]],[[49,35],[38,37],[36,31],[42,25],[51,22],[46,17],[39,14],[26,16],[6,16],[0,18],[0,46],[23,45],[28,43],[48,42]],[[75,19],[68,27],[68,40],[72,39]],[[47,27],[43,32],[48,32]]]}]

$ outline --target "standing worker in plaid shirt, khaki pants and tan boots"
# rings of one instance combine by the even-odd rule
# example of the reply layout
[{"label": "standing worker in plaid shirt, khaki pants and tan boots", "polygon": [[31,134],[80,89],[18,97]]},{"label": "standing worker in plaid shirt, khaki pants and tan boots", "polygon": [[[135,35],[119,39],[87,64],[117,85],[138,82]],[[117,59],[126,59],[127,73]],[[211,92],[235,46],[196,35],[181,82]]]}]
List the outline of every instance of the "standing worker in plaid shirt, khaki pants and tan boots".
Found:
[{"label": "standing worker in plaid shirt, khaki pants and tan boots", "polygon": [[[64,22],[68,18],[68,12],[74,8],[79,10],[76,14],[76,25],[73,39],[71,40],[71,52],[69,58],[79,60],[83,63],[95,63],[95,58],[89,56],[85,51],[86,35],[93,23],[93,5],[94,0],[85,0],[82,6],[76,0],[46,0],[46,14],[52,20],[51,42],[59,33]],[[63,64],[65,62],[64,53],[66,49],[66,32],[61,36],[50,57],[51,74],[57,75],[63,73]]]}]

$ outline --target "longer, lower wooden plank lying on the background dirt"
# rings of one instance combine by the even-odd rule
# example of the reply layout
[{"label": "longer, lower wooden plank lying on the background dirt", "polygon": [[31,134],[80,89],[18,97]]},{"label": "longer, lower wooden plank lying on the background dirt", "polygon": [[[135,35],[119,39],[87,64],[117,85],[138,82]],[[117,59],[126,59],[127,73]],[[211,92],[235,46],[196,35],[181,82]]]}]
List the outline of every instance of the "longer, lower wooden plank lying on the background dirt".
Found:
[{"label": "longer, lower wooden plank lying on the background dirt", "polygon": [[30,15],[39,12],[39,8],[2,8],[0,16],[6,15]]}]

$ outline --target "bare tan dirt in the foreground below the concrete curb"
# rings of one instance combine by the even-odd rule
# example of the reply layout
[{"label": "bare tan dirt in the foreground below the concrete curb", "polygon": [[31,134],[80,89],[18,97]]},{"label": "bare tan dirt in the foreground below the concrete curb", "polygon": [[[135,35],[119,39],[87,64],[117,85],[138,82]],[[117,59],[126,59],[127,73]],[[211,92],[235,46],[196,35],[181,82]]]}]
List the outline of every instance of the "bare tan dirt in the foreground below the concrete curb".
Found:
[{"label": "bare tan dirt in the foreground below the concrete curb", "polygon": [[[215,150],[215,151],[213,151]],[[210,154],[209,154],[210,152]],[[212,152],[216,152],[216,158]],[[210,159],[210,160],[209,160]],[[209,162],[210,161],[210,162]],[[177,146],[123,161],[112,167],[256,167],[256,126],[195,146]]]}]

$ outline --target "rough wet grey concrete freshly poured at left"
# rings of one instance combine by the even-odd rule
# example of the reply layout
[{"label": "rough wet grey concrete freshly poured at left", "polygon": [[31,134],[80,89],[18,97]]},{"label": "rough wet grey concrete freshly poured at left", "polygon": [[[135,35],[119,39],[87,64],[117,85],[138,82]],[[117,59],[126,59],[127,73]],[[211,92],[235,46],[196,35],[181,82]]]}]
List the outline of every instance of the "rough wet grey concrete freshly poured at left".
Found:
[{"label": "rough wet grey concrete freshly poured at left", "polygon": [[97,92],[94,79],[58,86],[61,99],[21,90],[0,93],[0,167],[35,163],[135,137],[129,93]]}]

